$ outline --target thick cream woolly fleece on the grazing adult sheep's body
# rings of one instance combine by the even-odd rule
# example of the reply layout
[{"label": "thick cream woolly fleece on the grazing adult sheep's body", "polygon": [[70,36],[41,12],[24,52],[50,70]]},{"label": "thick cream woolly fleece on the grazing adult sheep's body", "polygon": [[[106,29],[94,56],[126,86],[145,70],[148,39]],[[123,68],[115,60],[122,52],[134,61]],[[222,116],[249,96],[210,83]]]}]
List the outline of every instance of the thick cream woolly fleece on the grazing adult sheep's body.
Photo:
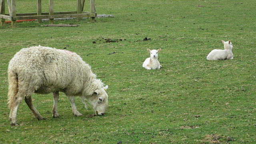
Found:
[{"label": "thick cream woolly fleece on the grazing adult sheep's body", "polygon": [[17,85],[22,96],[54,91],[67,96],[91,96],[94,90],[103,87],[90,66],[76,53],[40,45],[23,48],[14,55],[8,67],[8,80],[9,106]]}]

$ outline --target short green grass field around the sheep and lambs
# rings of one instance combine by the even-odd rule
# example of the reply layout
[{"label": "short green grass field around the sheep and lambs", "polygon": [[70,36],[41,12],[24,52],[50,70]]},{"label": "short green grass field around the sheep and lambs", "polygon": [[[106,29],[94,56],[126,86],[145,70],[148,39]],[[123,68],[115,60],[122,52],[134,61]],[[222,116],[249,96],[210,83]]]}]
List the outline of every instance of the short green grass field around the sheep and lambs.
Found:
[{"label": "short green grass field around the sheep and lambs", "polygon": [[[76,0],[54,4],[56,11],[76,11]],[[54,21],[78,27],[41,27],[48,22],[0,27],[0,144],[256,143],[255,0],[95,0],[95,4],[97,14],[114,18]],[[18,13],[36,12],[34,0],[16,5]],[[86,1],[85,11],[88,6]],[[47,12],[48,3],[42,7]],[[143,41],[145,37],[151,40]],[[109,38],[118,42],[104,40]],[[234,59],[206,60],[211,50],[224,49],[221,40],[231,40]],[[52,94],[33,94],[33,103],[46,120],[34,118],[23,101],[17,113],[20,125],[10,125],[8,62],[20,49],[39,44],[66,48],[90,64],[109,86],[106,115],[91,116],[92,107],[86,111],[76,98],[83,116],[75,117],[68,98],[60,93],[60,117],[52,118]],[[162,69],[142,67],[150,56],[147,48],[162,48],[158,54]]]}]

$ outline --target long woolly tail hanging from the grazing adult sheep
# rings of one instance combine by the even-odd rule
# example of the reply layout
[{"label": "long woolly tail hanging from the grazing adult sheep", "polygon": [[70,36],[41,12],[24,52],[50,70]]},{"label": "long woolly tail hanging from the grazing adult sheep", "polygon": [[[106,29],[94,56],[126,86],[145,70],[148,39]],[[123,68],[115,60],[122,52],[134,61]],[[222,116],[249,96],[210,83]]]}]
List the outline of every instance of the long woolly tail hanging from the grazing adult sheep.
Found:
[{"label": "long woolly tail hanging from the grazing adult sheep", "polygon": [[8,104],[9,108],[11,108],[12,101],[16,94],[18,93],[18,75],[17,73],[10,70],[8,72],[8,82],[9,82],[9,88],[8,88]]}]

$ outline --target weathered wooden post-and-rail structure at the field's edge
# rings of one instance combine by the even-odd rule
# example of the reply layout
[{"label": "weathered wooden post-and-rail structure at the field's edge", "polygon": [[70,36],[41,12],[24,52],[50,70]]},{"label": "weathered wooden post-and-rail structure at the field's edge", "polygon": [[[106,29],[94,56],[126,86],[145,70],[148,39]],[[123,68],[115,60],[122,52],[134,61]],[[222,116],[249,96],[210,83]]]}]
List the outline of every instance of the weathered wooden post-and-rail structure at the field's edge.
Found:
[{"label": "weathered wooden post-and-rail structure at the field's edge", "polygon": [[[10,2],[11,1],[11,2]],[[41,0],[37,0],[37,12],[36,13],[20,13],[16,14],[16,0],[7,0],[9,14],[5,14],[5,0],[0,0],[0,20],[1,26],[4,26],[5,20],[12,21],[12,27],[16,26],[16,20],[30,20],[37,19],[38,22],[42,22],[42,19],[49,19],[50,24],[53,24],[54,18],[77,18],[81,20],[82,17],[90,17],[91,22],[95,21],[97,16],[95,12],[94,0],[90,0],[90,12],[84,12],[84,1],[77,0],[76,12],[54,12],[53,0],[49,0],[49,12],[42,12]]]}]

